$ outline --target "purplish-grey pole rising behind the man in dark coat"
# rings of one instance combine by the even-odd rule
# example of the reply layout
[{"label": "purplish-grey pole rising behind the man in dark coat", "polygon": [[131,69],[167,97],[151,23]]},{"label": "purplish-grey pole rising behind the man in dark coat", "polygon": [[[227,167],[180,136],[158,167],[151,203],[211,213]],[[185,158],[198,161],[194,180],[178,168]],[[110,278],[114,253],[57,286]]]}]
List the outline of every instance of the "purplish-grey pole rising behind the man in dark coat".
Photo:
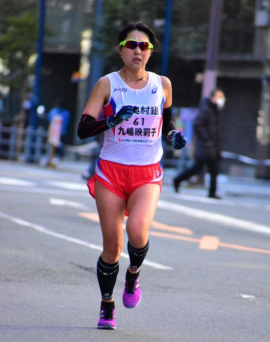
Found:
[{"label": "purplish-grey pole rising behind the man in dark coat", "polygon": [[208,29],[207,55],[203,85],[203,96],[209,96],[216,86],[217,57],[220,43],[220,29],[223,0],[212,0]]}]

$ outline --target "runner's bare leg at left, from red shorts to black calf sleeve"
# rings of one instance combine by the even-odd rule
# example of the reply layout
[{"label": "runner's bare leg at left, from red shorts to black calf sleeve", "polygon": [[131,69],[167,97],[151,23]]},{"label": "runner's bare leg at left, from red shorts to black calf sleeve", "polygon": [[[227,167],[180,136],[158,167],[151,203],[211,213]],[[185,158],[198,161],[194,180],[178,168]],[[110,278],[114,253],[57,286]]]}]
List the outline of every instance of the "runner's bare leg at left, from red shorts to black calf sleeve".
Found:
[{"label": "runner's bare leg at left, from red shorts to black calf sleeve", "polygon": [[95,197],[103,235],[102,259],[117,262],[123,249],[123,221],[126,201],[95,182]]}]

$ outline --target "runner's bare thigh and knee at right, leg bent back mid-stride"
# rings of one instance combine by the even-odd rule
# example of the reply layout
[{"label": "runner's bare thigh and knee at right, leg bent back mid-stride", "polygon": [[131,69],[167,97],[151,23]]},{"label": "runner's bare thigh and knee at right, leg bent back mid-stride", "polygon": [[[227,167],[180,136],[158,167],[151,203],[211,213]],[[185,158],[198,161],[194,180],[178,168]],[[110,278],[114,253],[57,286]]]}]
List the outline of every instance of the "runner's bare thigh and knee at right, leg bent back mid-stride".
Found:
[{"label": "runner's bare thigh and knee at right, leg bent back mid-stride", "polygon": [[148,240],[148,229],[154,218],[160,196],[160,186],[145,184],[130,194],[127,200],[126,232],[135,248],[143,248]]}]

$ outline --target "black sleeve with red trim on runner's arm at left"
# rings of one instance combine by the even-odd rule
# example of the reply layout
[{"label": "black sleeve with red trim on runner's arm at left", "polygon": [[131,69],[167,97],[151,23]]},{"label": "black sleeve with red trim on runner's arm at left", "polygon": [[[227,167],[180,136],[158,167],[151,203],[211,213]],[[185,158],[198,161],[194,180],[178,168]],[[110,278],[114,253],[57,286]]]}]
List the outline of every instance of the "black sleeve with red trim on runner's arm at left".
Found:
[{"label": "black sleeve with red trim on runner's arm at left", "polygon": [[83,114],[79,122],[77,134],[80,139],[85,139],[103,133],[107,129],[109,129],[107,119],[96,120],[91,115]]}]

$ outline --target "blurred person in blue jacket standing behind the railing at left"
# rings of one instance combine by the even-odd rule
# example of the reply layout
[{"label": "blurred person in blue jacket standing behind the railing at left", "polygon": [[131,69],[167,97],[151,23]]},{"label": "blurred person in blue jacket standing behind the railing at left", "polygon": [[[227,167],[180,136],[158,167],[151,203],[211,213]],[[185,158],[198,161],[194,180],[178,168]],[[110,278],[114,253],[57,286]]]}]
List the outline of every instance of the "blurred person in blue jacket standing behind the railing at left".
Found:
[{"label": "blurred person in blue jacket standing behind the railing at left", "polygon": [[59,146],[57,147],[56,153],[57,156],[62,159],[64,155],[64,144],[63,140],[65,136],[67,135],[67,129],[68,129],[68,124],[70,120],[70,112],[66,109],[63,101],[61,99],[57,100],[54,103],[54,107],[48,112],[47,116],[47,123],[48,125],[51,124],[53,121],[54,117],[61,117],[62,123],[61,123],[61,141],[59,143]]}]

